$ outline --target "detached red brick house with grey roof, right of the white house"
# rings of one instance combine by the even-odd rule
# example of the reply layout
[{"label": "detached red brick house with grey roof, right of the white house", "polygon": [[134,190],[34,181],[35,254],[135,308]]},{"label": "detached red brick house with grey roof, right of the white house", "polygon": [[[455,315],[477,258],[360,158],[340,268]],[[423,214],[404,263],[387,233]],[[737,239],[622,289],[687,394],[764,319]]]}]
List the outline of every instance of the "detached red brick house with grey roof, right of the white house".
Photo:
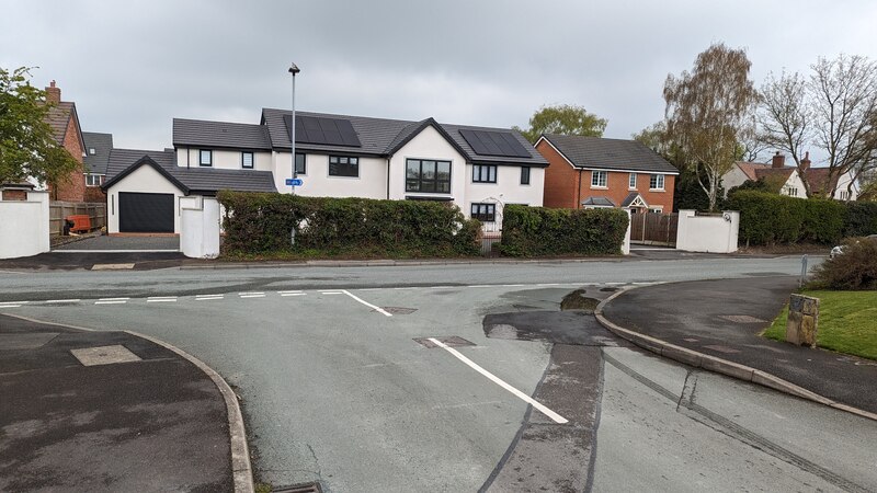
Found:
[{"label": "detached red brick house with grey roof, right of the white house", "polygon": [[545,207],[673,210],[679,170],[641,142],[548,134],[536,150],[548,160]]}]

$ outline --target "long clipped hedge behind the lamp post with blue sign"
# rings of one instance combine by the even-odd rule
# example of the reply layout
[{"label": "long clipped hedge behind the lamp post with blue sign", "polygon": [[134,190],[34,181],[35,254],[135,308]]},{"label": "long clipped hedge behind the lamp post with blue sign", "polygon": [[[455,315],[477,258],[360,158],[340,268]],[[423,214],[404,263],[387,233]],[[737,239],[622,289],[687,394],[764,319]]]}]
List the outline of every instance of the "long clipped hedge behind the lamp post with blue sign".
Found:
[{"label": "long clipped hedge behind the lamp post with blue sign", "polygon": [[226,254],[425,257],[480,249],[480,222],[451,204],[229,191],[217,198],[226,209]]}]

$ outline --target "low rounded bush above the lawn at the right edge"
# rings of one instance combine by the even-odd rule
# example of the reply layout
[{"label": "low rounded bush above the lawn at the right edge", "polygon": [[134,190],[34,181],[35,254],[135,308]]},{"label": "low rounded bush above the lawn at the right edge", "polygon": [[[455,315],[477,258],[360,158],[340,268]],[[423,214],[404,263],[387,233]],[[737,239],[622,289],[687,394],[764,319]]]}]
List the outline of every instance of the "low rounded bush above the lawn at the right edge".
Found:
[{"label": "low rounded bush above the lawn at the right edge", "polygon": [[877,240],[848,238],[843,253],[828,259],[813,270],[815,289],[877,289]]}]

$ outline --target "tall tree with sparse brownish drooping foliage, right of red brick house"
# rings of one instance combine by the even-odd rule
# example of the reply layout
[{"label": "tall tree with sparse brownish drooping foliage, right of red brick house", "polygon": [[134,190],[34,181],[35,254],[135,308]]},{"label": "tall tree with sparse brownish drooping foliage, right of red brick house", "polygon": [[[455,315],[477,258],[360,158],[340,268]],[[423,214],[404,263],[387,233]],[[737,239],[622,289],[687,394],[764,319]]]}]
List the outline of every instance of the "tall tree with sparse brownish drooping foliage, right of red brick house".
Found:
[{"label": "tall tree with sparse brownish drooping foliage, right of red brick house", "polygon": [[693,167],[710,210],[716,208],[721,176],[733,167],[758,102],[749,79],[751,65],[744,50],[718,43],[697,55],[692,72],[669,74],[664,82],[668,135]]}]

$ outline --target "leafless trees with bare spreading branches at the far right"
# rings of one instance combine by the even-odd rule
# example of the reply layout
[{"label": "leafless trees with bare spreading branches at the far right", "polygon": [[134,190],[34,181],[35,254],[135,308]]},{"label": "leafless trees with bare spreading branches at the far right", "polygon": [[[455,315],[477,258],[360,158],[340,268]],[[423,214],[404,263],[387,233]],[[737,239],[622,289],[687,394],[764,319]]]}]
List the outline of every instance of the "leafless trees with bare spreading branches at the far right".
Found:
[{"label": "leafless trees with bare spreading branches at the far right", "polygon": [[[809,78],[768,76],[761,90],[761,139],[791,154],[808,196],[832,196],[836,177],[862,179],[877,168],[877,64],[841,55],[819,58],[810,69]],[[829,177],[821,190],[811,190],[801,169],[808,147],[827,157]]]}]

